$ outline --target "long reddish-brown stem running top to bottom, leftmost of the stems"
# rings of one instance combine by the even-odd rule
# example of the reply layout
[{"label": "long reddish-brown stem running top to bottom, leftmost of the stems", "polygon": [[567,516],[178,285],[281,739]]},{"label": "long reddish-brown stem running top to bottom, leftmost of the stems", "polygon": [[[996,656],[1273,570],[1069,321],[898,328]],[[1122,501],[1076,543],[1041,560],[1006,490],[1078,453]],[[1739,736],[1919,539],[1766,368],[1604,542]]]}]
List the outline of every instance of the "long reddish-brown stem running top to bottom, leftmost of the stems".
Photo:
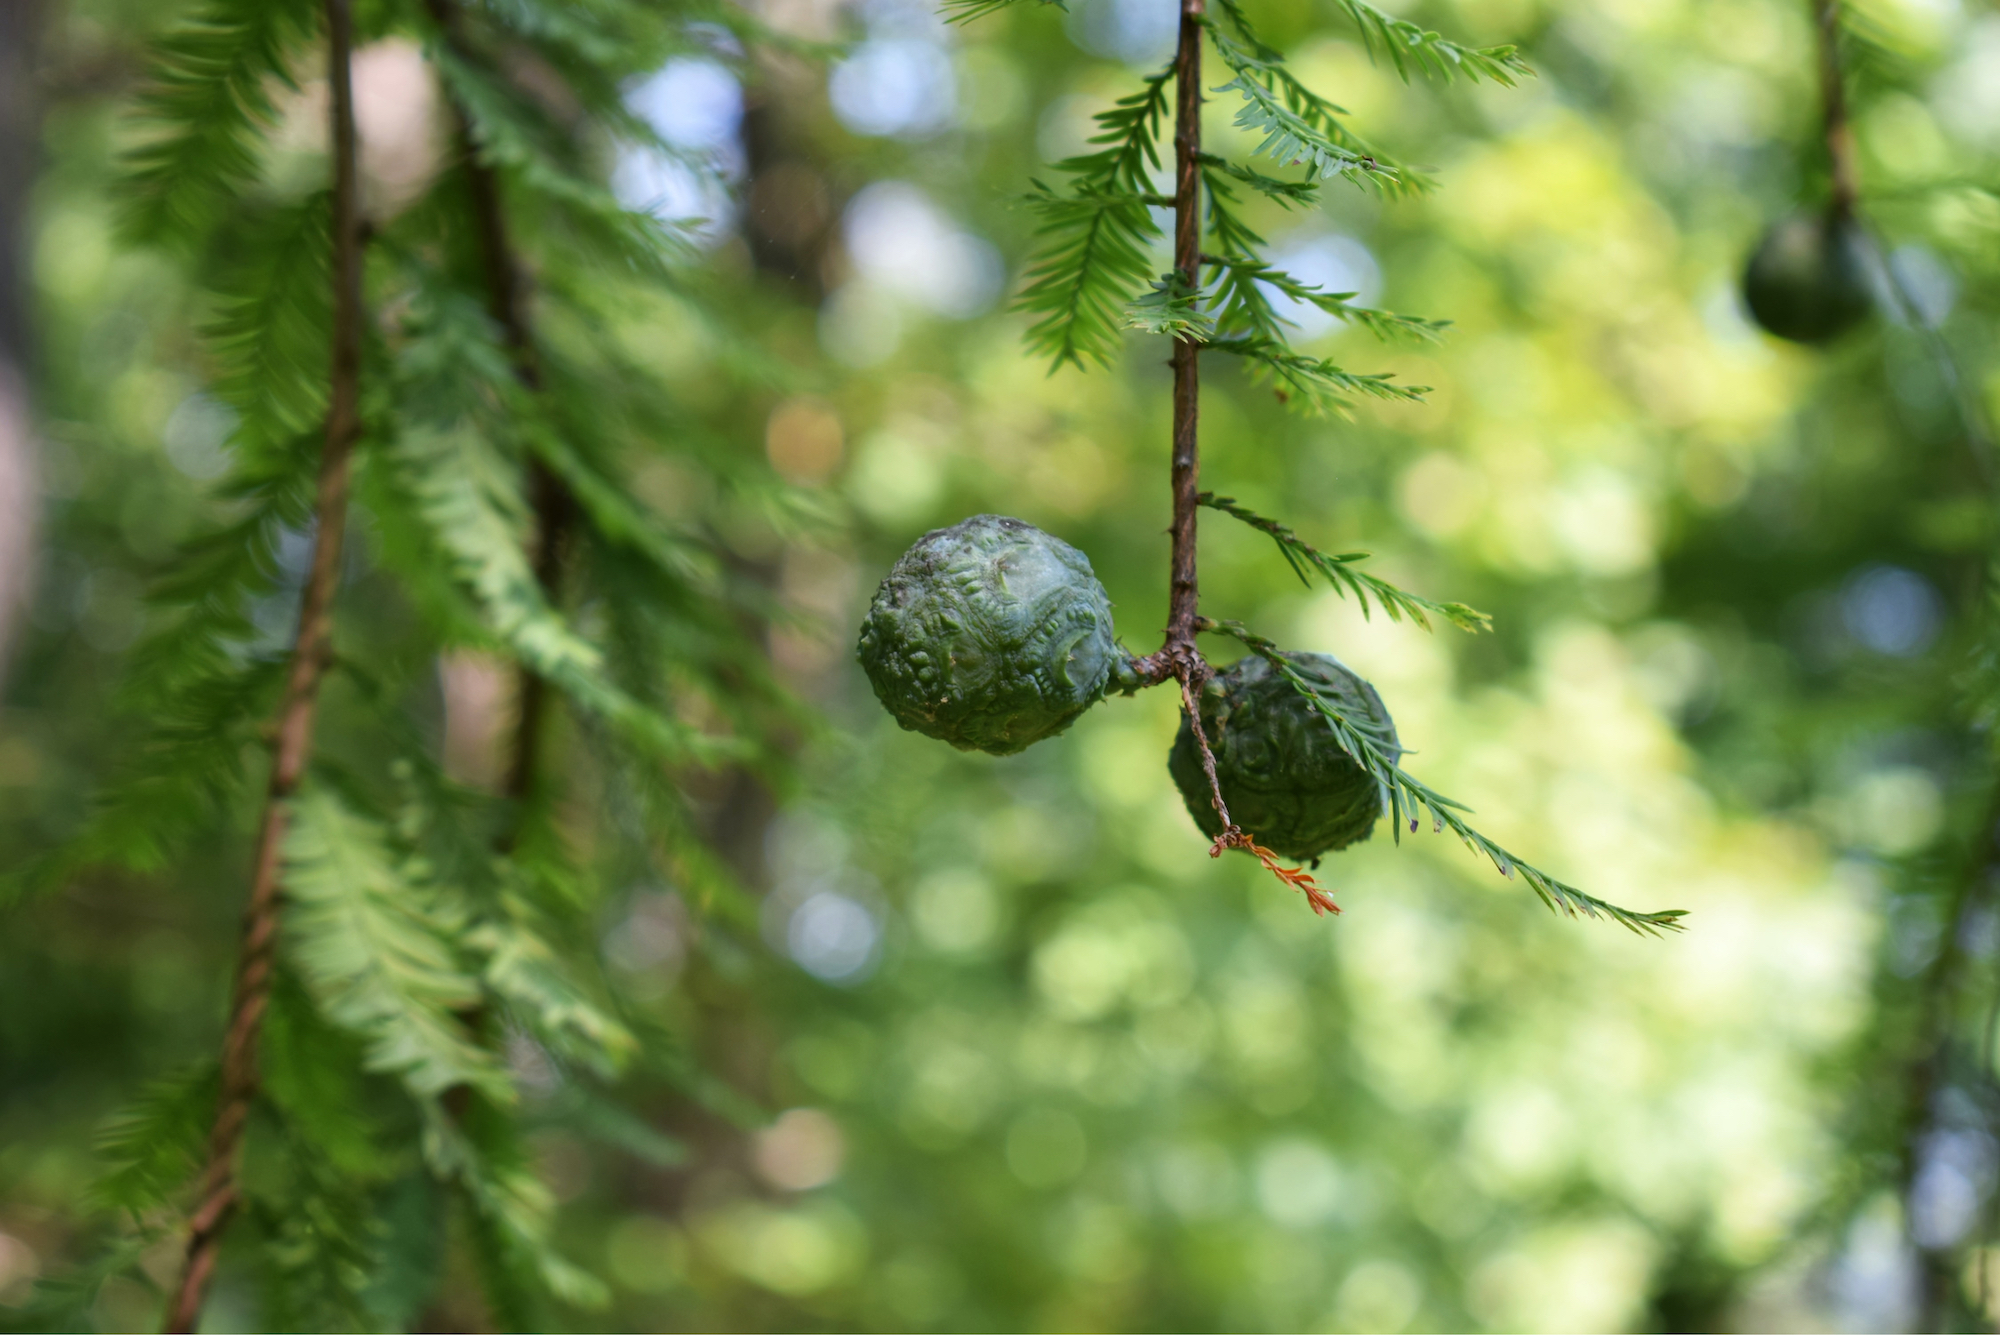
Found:
[{"label": "long reddish-brown stem running top to bottom, leftmost of the stems", "polygon": [[320,679],[332,658],[332,606],[340,586],[340,542],[346,528],[348,472],[360,436],[362,372],[362,220],[354,180],[354,88],[348,78],[354,32],[348,0],[326,0],[328,88],[334,148],[334,330],[326,442],[320,452],[314,504],[312,568],[298,606],[298,638],[284,683],[272,747],[270,789],[258,829],[244,909],[242,947],[228,1033],[222,1041],[222,1093],[208,1135],[200,1203],[188,1219],[188,1251],[166,1313],[168,1331],[192,1331],[216,1269],[222,1229],[236,1207],[236,1155],[258,1089],[258,1033],[270,1003],[272,955],[278,941],[280,869],[288,803],[312,755],[312,723]]}]

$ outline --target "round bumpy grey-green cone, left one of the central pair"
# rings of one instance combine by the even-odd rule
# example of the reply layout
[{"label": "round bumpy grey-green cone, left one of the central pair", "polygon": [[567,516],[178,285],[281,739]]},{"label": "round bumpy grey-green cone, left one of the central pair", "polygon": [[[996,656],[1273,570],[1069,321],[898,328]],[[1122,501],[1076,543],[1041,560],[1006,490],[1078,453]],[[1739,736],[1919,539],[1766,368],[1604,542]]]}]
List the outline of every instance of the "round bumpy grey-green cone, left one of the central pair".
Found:
[{"label": "round bumpy grey-green cone, left one of the central pair", "polygon": [[1096,703],[1124,654],[1082,552],[980,514],[902,554],[868,606],[858,658],[904,727],[1012,755]]}]

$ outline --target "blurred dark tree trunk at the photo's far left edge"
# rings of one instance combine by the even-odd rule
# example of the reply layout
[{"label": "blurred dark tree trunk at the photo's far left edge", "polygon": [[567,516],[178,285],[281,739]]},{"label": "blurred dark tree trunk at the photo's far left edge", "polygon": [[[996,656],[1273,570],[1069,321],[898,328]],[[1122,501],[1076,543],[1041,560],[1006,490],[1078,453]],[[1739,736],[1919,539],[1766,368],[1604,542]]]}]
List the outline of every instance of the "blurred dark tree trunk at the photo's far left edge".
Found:
[{"label": "blurred dark tree trunk at the photo's far left edge", "polygon": [[28,188],[40,160],[40,0],[0,0],[0,681],[34,566],[36,458],[28,412]]}]

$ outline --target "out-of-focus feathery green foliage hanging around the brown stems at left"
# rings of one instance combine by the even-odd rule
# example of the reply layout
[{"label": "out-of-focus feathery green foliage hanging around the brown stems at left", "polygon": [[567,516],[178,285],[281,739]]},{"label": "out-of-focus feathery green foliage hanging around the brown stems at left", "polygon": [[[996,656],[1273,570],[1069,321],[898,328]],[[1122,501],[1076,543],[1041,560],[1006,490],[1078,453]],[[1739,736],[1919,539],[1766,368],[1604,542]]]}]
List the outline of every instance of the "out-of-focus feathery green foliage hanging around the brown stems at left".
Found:
[{"label": "out-of-focus feathery green foliage hanging around the brown stems at left", "polygon": [[[700,272],[680,224],[618,200],[600,146],[706,172],[626,104],[634,80],[674,54],[748,58],[732,42],[816,48],[716,0],[388,0],[356,18],[362,42],[424,38],[470,160],[438,160],[414,200],[370,218],[350,522],[364,542],[346,584],[374,598],[336,598],[320,707],[338,723],[288,807],[230,1227],[272,1329],[414,1325],[452,1253],[484,1277],[494,1321],[536,1329],[604,1287],[554,1249],[556,1201],[524,1129],[574,1123],[652,1163],[680,1153],[618,1107],[640,1043],[594,961],[606,901],[632,869],[698,885],[688,773],[750,759],[776,773],[764,739],[800,717],[706,518],[666,522],[632,474],[668,460],[780,524],[808,508],[746,466],[712,402],[678,402],[614,330],[672,306],[726,384],[762,394],[798,374],[742,334],[762,312]],[[228,472],[128,656],[136,743],[76,833],[8,889],[94,865],[158,871],[204,833],[242,855],[330,402],[330,194],[260,188],[280,110],[308,104],[320,22],[314,0],[200,0],[138,100],[126,234],[206,286],[204,392],[232,416]],[[536,284],[508,306],[496,272]],[[572,751],[562,773],[600,765],[642,797],[572,815],[546,773],[520,793],[446,777],[426,701],[438,658],[464,650],[552,691],[542,735],[510,745]],[[552,1083],[522,1079],[508,1059],[522,1051]],[[202,1063],[108,1123],[94,1205],[120,1221],[98,1267],[50,1285],[48,1311],[82,1311],[174,1227],[214,1113]]]}]

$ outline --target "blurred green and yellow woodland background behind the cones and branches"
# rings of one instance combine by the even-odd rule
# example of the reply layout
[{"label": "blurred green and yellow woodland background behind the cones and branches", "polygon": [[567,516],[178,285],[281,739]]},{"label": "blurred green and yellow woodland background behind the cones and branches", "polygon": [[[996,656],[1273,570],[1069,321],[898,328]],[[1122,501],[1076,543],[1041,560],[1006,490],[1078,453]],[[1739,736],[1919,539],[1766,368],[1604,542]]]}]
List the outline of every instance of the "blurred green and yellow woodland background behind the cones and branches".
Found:
[{"label": "blurred green and yellow woodland background behind the cones and branches", "polygon": [[[684,1077],[628,1089],[636,1115],[580,1113],[512,1053],[562,1247],[612,1289],[570,1321],[1994,1321],[1992,757],[1960,703],[1990,486],[1908,320],[1804,352],[1738,304],[1762,226],[1824,190],[1804,4],[1412,4],[1536,70],[1448,90],[1372,64],[1334,6],[1260,4],[1264,40],[1438,190],[1334,182],[1318,212],[1246,216],[1328,264],[1328,286],[1350,274],[1452,328],[1418,352],[1308,326],[1314,352],[1432,386],[1422,406],[1302,420],[1220,358],[1204,392],[1204,486],[1324,552],[1372,552],[1494,634],[1364,620],[1222,516],[1204,516],[1204,612],[1338,654],[1388,699],[1412,767],[1496,839],[1606,899],[1688,909],[1682,937],[1558,919],[1428,831],[1328,859],[1346,913],[1318,919],[1250,859],[1204,855],[1166,775],[1170,691],[1008,759],[876,707],[850,662],[858,614],[908,542],[968,514],[1076,544],[1126,644],[1158,634],[1164,346],[1134,334],[1112,370],[1050,376],[988,266],[1018,270],[1028,180],[1156,68],[1168,8],[946,28],[896,0],[760,6],[860,42],[830,82],[752,62],[748,202],[710,240],[716,270],[770,294],[756,338],[800,390],[728,398],[732,350],[670,314],[620,334],[744,468],[838,516],[798,532],[698,478],[636,484],[796,614],[770,662],[832,725],[798,741],[776,811],[690,779],[764,893],[756,923],[644,875],[594,909],[616,989],[642,1037],[686,1049]],[[2000,16],[1852,8],[1872,38],[1852,66],[1864,206],[1996,404]],[[0,713],[8,863],[66,833],[120,753],[106,699],[140,590],[210,504],[196,276],[122,248],[108,192],[166,18],[50,10],[32,270],[48,528]],[[854,94],[932,58],[950,114],[896,120],[888,94]],[[1248,152],[1232,114],[1214,98],[1204,134]],[[368,582],[344,598],[366,606]],[[242,863],[242,839],[218,839],[4,909],[0,1315],[98,1255],[94,1127],[214,1051]],[[444,1319],[482,1323],[454,1255],[418,1263],[442,1275]],[[92,1319],[150,1325],[144,1281],[172,1259],[142,1255]],[[256,1321],[218,1293],[214,1329]]]}]

